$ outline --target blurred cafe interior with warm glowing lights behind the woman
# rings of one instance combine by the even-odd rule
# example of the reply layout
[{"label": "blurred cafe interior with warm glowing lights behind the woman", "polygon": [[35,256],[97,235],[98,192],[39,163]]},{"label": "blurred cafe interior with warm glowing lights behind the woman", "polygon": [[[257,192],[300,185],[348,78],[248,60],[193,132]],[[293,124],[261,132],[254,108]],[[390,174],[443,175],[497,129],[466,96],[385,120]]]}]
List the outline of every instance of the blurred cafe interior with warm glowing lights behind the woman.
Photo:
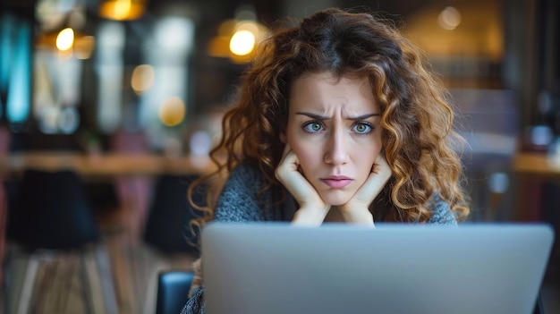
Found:
[{"label": "blurred cafe interior with warm glowing lights behind the woman", "polygon": [[[0,0],[0,313],[163,313],[189,182],[275,22],[367,7],[457,109],[466,223],[560,223],[556,0]],[[194,197],[202,197],[195,191]],[[560,248],[543,279],[560,312]]]}]

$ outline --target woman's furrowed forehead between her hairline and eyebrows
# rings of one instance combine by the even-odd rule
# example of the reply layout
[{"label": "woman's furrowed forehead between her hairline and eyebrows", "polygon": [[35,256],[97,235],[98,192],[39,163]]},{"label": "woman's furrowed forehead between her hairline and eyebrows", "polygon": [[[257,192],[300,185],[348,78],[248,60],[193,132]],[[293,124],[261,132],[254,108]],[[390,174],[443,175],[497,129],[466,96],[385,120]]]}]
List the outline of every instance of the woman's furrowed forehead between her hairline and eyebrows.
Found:
[{"label": "woman's furrowed forehead between her hairline and eyebrows", "polygon": [[[330,72],[306,73],[292,83],[289,106],[293,110],[378,113],[378,103],[367,78],[338,77]],[[291,110],[291,111],[293,111]]]}]

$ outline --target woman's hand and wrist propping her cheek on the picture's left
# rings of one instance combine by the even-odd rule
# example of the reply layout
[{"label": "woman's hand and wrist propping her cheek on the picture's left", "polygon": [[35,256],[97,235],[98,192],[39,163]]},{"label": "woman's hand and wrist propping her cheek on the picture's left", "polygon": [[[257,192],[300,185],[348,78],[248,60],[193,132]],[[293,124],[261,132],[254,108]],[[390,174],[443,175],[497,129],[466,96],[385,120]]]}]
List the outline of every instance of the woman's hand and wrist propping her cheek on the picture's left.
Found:
[{"label": "woman's hand and wrist propping her cheek on the picture's left", "polygon": [[290,191],[300,208],[295,212],[292,223],[297,225],[321,225],[327,216],[329,205],[298,170],[300,162],[289,144],[284,148],[284,156],[276,167],[276,179]]}]

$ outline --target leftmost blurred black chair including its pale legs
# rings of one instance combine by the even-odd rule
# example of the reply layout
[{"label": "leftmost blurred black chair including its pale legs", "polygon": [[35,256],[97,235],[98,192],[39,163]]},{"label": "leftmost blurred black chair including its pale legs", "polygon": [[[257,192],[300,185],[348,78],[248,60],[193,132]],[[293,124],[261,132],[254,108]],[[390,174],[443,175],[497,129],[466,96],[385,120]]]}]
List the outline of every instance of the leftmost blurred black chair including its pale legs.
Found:
[{"label": "leftmost blurred black chair including its pale legs", "polygon": [[[30,252],[17,313],[27,313],[39,261],[56,252],[84,250],[99,242],[98,226],[81,180],[70,170],[47,172],[28,169],[17,182],[13,202],[8,204],[6,239]],[[95,255],[100,268],[107,312],[117,312],[109,262],[101,248]],[[81,254],[82,264],[84,255]],[[83,269],[84,286],[89,272]],[[99,280],[99,279],[98,279]]]}]

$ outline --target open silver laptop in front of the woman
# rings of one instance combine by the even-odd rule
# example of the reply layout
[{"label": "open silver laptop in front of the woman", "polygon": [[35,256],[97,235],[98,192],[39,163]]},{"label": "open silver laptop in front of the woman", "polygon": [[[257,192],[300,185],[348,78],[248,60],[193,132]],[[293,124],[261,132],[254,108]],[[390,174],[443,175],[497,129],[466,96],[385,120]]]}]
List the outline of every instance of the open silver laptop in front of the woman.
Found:
[{"label": "open silver laptop in front of the woman", "polygon": [[208,314],[530,314],[554,232],[537,224],[210,223]]}]

